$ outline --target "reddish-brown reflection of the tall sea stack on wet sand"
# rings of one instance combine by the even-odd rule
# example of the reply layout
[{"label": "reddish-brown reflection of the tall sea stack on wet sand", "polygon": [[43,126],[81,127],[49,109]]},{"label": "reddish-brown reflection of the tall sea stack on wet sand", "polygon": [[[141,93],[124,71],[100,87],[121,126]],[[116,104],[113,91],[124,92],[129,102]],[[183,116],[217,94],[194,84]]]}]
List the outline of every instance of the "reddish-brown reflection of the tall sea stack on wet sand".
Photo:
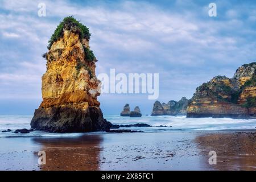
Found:
[{"label": "reddish-brown reflection of the tall sea stack on wet sand", "polygon": [[33,138],[32,140],[40,145],[39,151],[46,152],[46,164],[40,165],[40,170],[100,169],[101,135],[85,134],[75,138]]}]

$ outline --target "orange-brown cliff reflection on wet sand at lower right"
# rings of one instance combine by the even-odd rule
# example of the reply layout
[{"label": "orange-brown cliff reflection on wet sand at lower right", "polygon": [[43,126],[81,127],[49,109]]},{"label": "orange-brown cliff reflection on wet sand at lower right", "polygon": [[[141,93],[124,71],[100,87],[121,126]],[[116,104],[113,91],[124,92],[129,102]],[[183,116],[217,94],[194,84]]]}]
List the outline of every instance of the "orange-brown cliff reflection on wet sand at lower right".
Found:
[{"label": "orange-brown cliff reflection on wet sand at lower right", "polygon": [[[210,134],[197,137],[204,163],[214,170],[256,170],[255,133]],[[208,163],[209,151],[216,151],[217,164]]]}]

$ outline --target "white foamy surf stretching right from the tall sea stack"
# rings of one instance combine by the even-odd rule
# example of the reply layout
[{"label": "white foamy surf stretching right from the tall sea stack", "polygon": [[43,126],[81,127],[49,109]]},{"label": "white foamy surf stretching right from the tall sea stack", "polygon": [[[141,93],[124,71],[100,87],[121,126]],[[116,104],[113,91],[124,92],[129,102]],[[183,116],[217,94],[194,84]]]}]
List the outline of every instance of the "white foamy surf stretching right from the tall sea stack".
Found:
[{"label": "white foamy surf stretching right from the tall sea stack", "polygon": [[152,126],[166,125],[172,129],[181,130],[233,130],[255,129],[256,119],[231,119],[231,118],[186,118],[179,116],[142,116],[141,118],[106,116],[108,121],[115,124],[147,123]]}]

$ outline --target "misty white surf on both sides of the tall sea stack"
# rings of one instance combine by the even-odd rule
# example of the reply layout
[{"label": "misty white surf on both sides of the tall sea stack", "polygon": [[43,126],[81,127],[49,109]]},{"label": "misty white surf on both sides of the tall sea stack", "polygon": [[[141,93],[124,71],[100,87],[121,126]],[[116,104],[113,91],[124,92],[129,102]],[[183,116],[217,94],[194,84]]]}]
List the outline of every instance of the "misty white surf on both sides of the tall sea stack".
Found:
[{"label": "misty white surf on both sides of the tall sea stack", "polygon": [[[151,126],[168,127],[131,127],[132,130],[142,130],[144,132],[170,132],[170,131],[217,131],[217,130],[247,130],[256,128],[256,119],[230,119],[230,118],[186,118],[185,116],[150,116],[143,115],[141,118],[120,117],[119,115],[105,115],[108,121],[116,125],[130,125],[136,123],[146,123]],[[0,115],[0,131],[30,129],[32,115]],[[56,134],[34,131],[30,134],[0,133],[0,137],[18,136],[79,136],[79,133]]]}]

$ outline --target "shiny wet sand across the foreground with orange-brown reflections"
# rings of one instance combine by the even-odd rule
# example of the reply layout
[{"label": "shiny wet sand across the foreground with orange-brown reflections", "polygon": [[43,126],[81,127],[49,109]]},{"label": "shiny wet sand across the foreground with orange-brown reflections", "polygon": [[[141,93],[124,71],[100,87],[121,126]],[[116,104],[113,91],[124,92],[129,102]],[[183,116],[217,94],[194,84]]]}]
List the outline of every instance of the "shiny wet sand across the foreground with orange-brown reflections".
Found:
[{"label": "shiny wet sand across the foreground with orange-brown reflections", "polygon": [[[0,138],[1,170],[256,170],[255,131],[25,136]],[[208,163],[211,150],[216,165]]]}]

